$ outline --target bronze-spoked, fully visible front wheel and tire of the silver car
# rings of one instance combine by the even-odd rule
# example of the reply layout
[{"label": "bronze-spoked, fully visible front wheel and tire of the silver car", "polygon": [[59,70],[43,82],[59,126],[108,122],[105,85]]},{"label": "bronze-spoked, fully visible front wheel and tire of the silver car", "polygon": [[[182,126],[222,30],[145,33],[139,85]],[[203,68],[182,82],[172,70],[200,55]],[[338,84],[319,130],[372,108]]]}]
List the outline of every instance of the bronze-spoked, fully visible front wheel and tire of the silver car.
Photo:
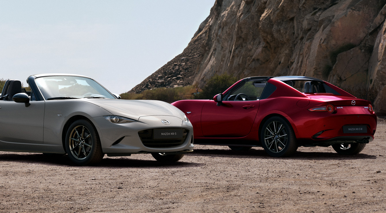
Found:
[{"label": "bronze-spoked, fully visible front wheel and tire of the silver car", "polygon": [[72,123],[65,140],[67,155],[78,166],[96,164],[104,156],[97,130],[88,120]]}]

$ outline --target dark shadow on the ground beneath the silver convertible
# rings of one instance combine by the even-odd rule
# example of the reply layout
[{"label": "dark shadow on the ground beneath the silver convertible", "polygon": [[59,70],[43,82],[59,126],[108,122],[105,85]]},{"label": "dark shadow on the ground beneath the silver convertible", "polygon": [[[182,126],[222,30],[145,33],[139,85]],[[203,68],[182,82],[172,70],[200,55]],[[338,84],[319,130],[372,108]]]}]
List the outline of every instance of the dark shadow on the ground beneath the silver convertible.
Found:
[{"label": "dark shadow on the ground beneath the silver convertible", "polygon": [[[96,165],[90,165],[86,167],[135,167],[135,168],[173,168],[173,167],[197,167],[203,164],[195,162],[184,162],[184,158],[181,161],[173,163],[161,163],[157,160],[139,160],[132,159],[130,157],[105,157],[102,161]],[[21,162],[26,164],[44,164],[55,166],[76,166],[71,162],[67,155],[61,157],[45,156],[42,153],[4,153],[0,154],[0,162]]]}]

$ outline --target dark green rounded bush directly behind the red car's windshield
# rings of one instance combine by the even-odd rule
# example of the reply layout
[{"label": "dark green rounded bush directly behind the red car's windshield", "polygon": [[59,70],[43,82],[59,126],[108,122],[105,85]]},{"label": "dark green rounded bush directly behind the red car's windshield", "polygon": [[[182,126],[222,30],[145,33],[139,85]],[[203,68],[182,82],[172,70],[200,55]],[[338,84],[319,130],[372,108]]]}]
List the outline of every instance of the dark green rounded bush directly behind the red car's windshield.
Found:
[{"label": "dark green rounded bush directly behind the red car's windshield", "polygon": [[210,78],[202,89],[202,92],[196,94],[194,99],[213,99],[213,96],[224,92],[232,86],[238,79],[227,74],[214,75]]}]

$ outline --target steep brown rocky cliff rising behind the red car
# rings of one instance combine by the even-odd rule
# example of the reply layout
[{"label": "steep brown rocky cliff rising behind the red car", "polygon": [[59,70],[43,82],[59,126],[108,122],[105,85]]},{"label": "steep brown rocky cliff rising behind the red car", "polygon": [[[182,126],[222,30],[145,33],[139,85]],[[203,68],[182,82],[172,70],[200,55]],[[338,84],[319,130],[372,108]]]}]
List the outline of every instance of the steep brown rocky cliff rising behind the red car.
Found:
[{"label": "steep brown rocky cliff rising behind the red car", "polygon": [[131,92],[238,78],[327,80],[386,112],[385,0],[216,0],[188,47]]}]

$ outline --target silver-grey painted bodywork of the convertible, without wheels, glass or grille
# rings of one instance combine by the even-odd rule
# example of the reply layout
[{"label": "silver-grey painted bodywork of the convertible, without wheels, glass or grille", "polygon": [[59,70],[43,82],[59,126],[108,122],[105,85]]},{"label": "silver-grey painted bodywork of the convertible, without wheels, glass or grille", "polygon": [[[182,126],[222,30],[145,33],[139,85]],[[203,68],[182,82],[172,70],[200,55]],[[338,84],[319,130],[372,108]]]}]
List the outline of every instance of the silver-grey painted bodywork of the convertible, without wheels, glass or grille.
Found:
[{"label": "silver-grey painted bodywork of the convertible, without wheels, glass or grille", "polygon": [[[66,74],[31,77],[54,75]],[[32,90],[35,88],[32,92],[40,92],[31,77],[28,78],[29,85]],[[38,100],[39,95],[41,94],[37,94]],[[112,123],[103,117],[109,115],[134,119],[136,122]],[[0,150],[65,153],[63,142],[66,127],[71,121],[74,121],[74,118],[86,118],[97,129],[103,153],[191,151],[193,150],[193,127],[189,121],[183,121],[184,116],[185,114],[173,105],[152,100],[41,99],[41,101],[30,101],[28,107],[14,101],[0,101]],[[170,124],[162,123],[163,119],[168,120]],[[146,147],[138,132],[157,128],[183,128],[188,130],[188,135],[185,141],[178,146]],[[119,141],[121,138],[122,140]]]}]

